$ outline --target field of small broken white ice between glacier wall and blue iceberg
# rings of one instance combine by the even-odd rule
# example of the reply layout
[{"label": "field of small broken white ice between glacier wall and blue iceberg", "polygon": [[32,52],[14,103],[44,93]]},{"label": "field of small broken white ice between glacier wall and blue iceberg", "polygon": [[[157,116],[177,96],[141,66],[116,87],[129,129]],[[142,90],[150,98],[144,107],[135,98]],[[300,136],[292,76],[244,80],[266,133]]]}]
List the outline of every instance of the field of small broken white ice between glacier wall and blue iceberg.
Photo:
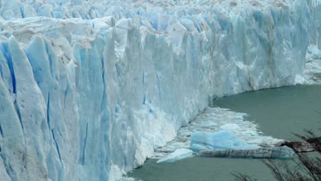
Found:
[{"label": "field of small broken white ice between glacier wall and blue iceberg", "polygon": [[[154,158],[163,158],[169,152],[178,148],[190,147],[191,134],[194,132],[219,132],[226,130],[241,141],[250,145],[272,146],[281,143],[281,139],[265,136],[259,130],[259,126],[252,121],[246,120],[247,114],[234,112],[226,108],[207,108],[189,123],[178,131],[176,138],[167,143],[165,147],[156,149]],[[193,145],[194,149],[204,149],[202,145]]]}]

